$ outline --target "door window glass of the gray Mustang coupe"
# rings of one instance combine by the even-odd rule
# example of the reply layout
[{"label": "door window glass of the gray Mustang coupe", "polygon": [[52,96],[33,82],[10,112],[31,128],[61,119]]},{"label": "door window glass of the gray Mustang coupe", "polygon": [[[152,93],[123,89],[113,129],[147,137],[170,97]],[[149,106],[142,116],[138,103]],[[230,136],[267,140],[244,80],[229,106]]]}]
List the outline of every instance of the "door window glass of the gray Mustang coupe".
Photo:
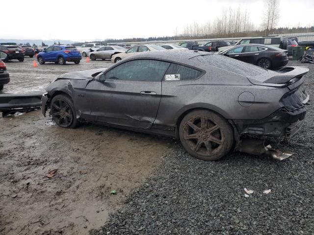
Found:
[{"label": "door window glass of the gray Mustang coupe", "polygon": [[106,72],[105,79],[161,81],[170,63],[157,60],[132,60]]}]

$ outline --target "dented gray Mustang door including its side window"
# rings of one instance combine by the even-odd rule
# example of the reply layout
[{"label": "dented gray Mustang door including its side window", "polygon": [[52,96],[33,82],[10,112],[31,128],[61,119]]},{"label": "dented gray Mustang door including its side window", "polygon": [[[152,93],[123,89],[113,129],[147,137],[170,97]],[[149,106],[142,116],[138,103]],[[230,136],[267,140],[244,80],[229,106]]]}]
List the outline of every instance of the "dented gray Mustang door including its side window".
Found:
[{"label": "dented gray Mustang door including its side window", "polygon": [[170,63],[132,60],[97,76],[86,86],[92,119],[149,129],[157,116],[161,80]]}]

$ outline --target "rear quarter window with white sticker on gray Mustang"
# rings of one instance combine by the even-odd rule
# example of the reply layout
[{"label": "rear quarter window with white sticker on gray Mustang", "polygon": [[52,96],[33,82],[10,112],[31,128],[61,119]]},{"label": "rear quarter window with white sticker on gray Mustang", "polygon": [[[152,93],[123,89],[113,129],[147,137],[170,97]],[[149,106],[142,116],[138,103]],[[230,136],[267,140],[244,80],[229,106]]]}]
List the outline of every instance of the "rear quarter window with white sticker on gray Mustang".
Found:
[{"label": "rear quarter window with white sticker on gray Mustang", "polygon": [[179,65],[179,64],[171,64],[166,71],[166,75],[172,76],[165,76],[165,80],[195,80],[199,78],[203,74],[202,71],[192,69],[187,66]]}]

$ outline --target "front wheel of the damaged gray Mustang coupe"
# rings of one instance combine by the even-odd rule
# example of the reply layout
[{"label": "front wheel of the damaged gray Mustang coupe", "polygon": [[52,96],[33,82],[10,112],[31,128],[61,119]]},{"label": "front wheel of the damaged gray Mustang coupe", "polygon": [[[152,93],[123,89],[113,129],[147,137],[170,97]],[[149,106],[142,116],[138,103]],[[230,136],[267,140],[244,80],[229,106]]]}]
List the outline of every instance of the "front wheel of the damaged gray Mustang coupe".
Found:
[{"label": "front wheel of the damaged gray Mustang coupe", "polygon": [[60,127],[75,128],[78,125],[73,102],[65,94],[58,94],[52,98],[50,113],[53,121]]}]

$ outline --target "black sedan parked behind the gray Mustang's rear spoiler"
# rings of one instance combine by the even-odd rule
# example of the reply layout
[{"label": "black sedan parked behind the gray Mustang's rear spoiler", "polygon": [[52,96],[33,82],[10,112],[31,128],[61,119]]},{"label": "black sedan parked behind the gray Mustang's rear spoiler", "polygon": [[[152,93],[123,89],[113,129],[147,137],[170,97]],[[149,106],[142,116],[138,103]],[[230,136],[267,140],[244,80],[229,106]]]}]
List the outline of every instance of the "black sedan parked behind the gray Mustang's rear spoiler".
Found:
[{"label": "black sedan parked behind the gray Mustang's rear spoiler", "polygon": [[264,69],[277,69],[287,65],[289,61],[288,50],[262,44],[242,44],[220,54]]}]

